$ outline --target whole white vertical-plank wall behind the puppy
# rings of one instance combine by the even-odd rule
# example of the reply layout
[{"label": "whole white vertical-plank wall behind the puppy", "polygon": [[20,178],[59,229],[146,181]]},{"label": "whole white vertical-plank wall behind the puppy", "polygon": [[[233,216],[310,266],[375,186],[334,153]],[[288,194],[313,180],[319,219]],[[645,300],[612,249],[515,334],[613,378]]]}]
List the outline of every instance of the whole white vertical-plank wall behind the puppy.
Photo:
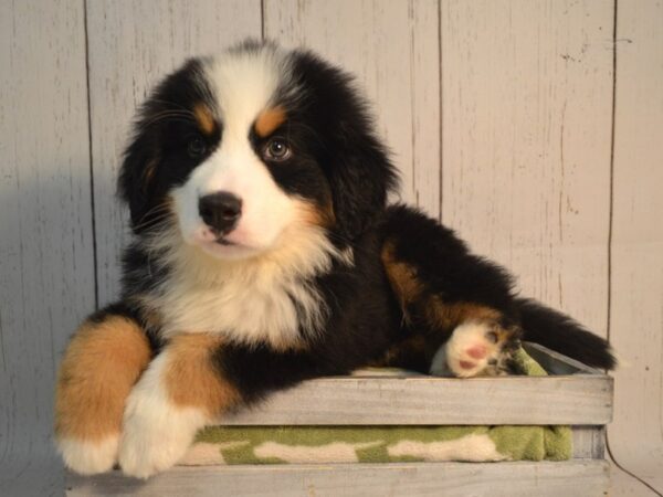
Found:
[{"label": "whole white vertical-plank wall behind the puppy", "polygon": [[263,35],[357,75],[403,201],[609,336],[612,453],[663,489],[660,0],[0,0],[0,464],[46,453],[65,338],[117,295],[136,105]]}]

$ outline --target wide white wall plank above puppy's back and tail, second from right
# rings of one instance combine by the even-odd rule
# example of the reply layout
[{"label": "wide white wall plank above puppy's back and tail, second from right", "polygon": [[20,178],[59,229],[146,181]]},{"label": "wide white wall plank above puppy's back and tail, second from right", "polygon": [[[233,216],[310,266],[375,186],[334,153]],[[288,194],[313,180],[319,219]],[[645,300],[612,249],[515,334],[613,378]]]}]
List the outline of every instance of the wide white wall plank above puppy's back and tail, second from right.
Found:
[{"label": "wide white wall plank above puppy's back and tail, second from right", "polygon": [[606,335],[612,1],[442,2],[442,219]]}]

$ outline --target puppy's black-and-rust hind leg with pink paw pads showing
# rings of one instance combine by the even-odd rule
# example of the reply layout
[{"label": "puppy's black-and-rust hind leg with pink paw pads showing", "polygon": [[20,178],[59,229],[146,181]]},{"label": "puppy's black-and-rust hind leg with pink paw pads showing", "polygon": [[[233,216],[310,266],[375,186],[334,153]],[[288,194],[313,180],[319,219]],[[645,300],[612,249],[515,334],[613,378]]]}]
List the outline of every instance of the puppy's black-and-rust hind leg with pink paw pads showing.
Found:
[{"label": "puppy's black-and-rust hind leg with pink paw pads showing", "polygon": [[520,335],[511,277],[435,221],[392,212],[381,257],[411,337],[388,351],[390,363],[418,355],[417,369],[434,374],[502,373]]}]

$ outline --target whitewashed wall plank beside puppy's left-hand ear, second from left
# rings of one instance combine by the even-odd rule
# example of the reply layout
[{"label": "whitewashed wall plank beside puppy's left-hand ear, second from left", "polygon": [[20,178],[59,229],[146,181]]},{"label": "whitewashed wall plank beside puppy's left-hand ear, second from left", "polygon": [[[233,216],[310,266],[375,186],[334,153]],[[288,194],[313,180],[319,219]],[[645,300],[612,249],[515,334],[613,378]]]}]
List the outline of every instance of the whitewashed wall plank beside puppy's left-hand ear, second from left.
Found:
[{"label": "whitewashed wall plank beside puppy's left-hand ear, second from left", "polygon": [[118,290],[128,240],[116,199],[129,125],[147,92],[186,57],[261,35],[260,0],[106,0],[87,3],[99,303]]}]

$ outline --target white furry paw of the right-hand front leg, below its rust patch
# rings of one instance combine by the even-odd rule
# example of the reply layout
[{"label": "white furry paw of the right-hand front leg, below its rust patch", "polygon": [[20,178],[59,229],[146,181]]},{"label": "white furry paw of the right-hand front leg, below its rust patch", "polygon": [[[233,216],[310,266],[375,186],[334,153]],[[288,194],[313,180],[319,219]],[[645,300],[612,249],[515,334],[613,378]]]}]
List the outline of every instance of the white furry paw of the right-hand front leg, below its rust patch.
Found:
[{"label": "white furry paw of the right-hand front leg, below its rust patch", "polygon": [[158,387],[140,383],[129,395],[119,444],[119,465],[127,476],[147,478],[173,466],[204,423],[199,409],[175,405]]}]

